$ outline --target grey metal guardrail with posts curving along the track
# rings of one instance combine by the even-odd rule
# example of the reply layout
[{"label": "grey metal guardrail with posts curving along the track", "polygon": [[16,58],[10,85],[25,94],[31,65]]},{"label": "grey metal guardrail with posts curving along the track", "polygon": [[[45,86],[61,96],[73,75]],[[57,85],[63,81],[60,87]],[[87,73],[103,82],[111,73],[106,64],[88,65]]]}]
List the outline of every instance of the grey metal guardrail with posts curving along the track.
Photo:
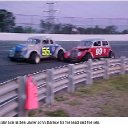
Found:
[{"label": "grey metal guardrail with posts curving along the track", "polygon": [[[94,79],[109,79],[114,74],[128,71],[128,58],[88,61],[47,69],[32,74],[38,85],[38,100],[54,103],[56,92],[67,89],[74,92],[80,82],[91,85]],[[0,116],[27,116],[24,109],[26,76],[18,77],[0,85]]]}]

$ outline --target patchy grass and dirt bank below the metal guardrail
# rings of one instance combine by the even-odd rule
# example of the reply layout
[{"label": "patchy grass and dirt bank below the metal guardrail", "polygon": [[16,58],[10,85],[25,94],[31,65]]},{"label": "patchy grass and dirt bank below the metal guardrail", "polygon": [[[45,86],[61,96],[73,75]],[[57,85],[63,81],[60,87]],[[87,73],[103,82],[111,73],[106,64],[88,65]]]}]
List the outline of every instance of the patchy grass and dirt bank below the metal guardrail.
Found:
[{"label": "patchy grass and dirt bank below the metal guardrail", "polygon": [[32,116],[128,116],[128,75],[81,85],[72,94],[61,92],[52,106],[42,105]]}]

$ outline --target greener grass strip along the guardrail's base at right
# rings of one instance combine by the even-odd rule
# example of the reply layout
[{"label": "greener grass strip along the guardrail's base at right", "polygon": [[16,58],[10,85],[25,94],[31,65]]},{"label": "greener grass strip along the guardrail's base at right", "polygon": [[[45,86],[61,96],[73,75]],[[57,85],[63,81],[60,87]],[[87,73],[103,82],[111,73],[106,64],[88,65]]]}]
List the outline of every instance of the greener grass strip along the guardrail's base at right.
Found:
[{"label": "greener grass strip along the guardrail's base at right", "polygon": [[124,91],[128,92],[128,75],[115,76],[109,80],[99,80],[91,86],[79,87],[73,94],[76,96],[96,95],[108,91]]}]

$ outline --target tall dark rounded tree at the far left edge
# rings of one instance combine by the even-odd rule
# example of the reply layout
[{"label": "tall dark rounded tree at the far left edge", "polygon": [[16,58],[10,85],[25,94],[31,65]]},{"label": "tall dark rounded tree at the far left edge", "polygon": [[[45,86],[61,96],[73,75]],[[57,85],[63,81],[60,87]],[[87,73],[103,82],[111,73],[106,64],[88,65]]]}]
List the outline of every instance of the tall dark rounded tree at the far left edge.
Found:
[{"label": "tall dark rounded tree at the far left edge", "polygon": [[0,9],[0,31],[9,32],[15,26],[13,13]]}]

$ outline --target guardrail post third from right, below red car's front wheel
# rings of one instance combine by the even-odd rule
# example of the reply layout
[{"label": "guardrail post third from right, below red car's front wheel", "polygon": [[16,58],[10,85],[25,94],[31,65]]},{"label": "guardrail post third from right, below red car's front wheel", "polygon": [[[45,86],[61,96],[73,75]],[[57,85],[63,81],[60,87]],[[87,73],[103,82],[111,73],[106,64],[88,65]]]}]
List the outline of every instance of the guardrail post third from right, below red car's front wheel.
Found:
[{"label": "guardrail post third from right, below red car's front wheel", "polygon": [[87,61],[87,81],[86,84],[91,85],[93,84],[93,78],[92,78],[92,60],[90,59]]}]

